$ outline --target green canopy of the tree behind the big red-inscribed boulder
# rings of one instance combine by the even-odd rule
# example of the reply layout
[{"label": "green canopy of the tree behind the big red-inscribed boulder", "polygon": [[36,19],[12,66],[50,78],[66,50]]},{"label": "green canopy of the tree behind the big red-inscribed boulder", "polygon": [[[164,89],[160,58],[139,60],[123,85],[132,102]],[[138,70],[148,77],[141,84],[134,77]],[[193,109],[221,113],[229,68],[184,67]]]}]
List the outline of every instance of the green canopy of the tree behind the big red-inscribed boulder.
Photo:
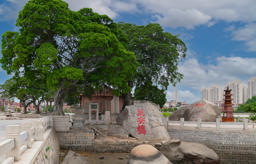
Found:
[{"label": "green canopy of the tree behind the big red-inscribed boulder", "polygon": [[[144,89],[152,81],[152,86],[167,90],[169,84],[180,82],[183,75],[178,72],[178,63],[185,59],[187,48],[179,35],[164,32],[156,23],[136,26],[119,22],[118,26],[129,40],[127,50],[135,53],[138,62],[136,74],[128,82],[131,88]],[[129,94],[125,96],[126,101],[129,98]]]}]

